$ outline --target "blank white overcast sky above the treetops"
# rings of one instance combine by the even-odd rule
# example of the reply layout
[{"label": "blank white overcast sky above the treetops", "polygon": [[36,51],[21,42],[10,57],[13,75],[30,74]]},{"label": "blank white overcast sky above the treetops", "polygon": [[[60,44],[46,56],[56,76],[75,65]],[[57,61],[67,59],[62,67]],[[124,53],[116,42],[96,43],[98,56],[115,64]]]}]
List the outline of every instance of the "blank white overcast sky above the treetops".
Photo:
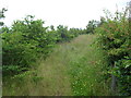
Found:
[{"label": "blank white overcast sky above the treetops", "polygon": [[111,12],[124,8],[130,0],[0,0],[0,9],[7,8],[4,23],[35,15],[46,25],[67,25],[85,28],[90,20],[99,20],[103,9]]}]

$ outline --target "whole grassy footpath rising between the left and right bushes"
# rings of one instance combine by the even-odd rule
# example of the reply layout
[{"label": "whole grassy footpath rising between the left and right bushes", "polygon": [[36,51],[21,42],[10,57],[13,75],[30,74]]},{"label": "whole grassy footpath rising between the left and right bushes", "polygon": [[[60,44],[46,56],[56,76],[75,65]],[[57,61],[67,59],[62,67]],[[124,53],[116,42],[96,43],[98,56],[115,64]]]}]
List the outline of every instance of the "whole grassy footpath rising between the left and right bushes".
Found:
[{"label": "whole grassy footpath rising between the left and right bushes", "polygon": [[46,61],[39,60],[34,70],[37,74],[28,75],[26,81],[10,81],[3,86],[3,95],[109,95],[102,70],[106,62],[102,51],[92,46],[95,37],[81,35],[71,42],[57,45]]}]

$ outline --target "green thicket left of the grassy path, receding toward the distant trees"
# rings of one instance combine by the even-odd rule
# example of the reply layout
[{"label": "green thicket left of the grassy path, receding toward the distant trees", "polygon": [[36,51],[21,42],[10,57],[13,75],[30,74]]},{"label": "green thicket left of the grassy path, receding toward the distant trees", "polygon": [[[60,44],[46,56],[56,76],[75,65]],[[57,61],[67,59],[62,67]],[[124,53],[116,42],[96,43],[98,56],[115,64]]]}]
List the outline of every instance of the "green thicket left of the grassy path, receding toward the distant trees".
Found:
[{"label": "green thicket left of the grassy path, receding toward the distant trees", "polygon": [[11,27],[0,28],[2,38],[3,77],[11,77],[34,68],[38,59],[46,59],[55,44],[70,41],[82,33],[79,28],[59,25],[44,27],[44,21],[27,15],[23,21],[15,21]]}]

